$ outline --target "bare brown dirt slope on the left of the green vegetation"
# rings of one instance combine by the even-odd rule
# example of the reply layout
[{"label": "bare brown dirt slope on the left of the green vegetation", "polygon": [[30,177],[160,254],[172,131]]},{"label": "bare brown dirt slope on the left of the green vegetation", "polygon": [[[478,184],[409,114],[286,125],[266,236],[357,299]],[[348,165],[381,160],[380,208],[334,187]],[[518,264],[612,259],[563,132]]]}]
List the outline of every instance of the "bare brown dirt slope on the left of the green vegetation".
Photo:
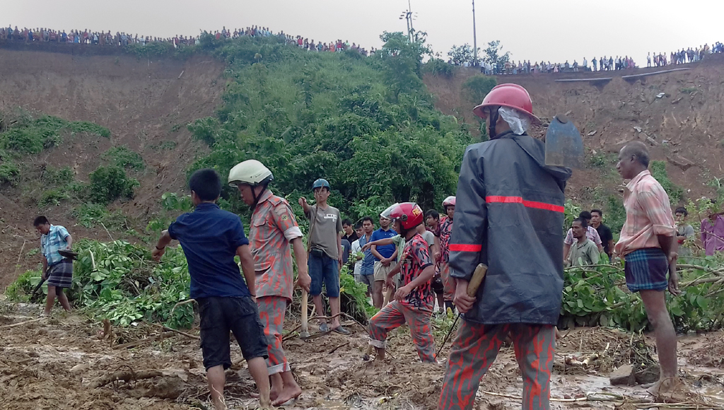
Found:
[{"label": "bare brown dirt slope on the left of the green vegetation", "polygon": [[[78,180],[86,180],[98,166],[98,157],[111,146],[126,145],[138,151],[146,161],[146,170],[139,177],[141,186],[135,200],[122,208],[130,217],[141,219],[157,206],[161,193],[184,187],[188,164],[203,151],[200,143],[191,141],[185,125],[213,114],[224,88],[223,69],[224,64],[205,56],[184,62],[0,48],[0,110],[21,106],[30,112],[108,127],[110,139],[69,138],[28,162],[33,167],[70,166]],[[24,254],[38,246],[38,235],[30,224],[41,209],[17,204],[17,192],[0,190],[0,233],[4,236],[0,288],[16,276],[19,256],[22,267],[17,272],[38,262],[37,256],[26,258]],[[70,209],[42,212],[68,221]],[[82,227],[72,231],[84,237],[108,238],[105,232],[100,235]],[[28,242],[20,254],[23,240]]]}]

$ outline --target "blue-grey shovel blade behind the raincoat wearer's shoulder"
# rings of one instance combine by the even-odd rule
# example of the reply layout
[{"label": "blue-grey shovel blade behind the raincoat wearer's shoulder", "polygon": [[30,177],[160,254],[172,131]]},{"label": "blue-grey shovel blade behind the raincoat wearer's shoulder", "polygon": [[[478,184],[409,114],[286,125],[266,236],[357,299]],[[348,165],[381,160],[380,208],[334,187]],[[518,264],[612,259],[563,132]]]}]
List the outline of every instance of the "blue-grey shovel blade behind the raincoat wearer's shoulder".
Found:
[{"label": "blue-grey shovel blade behind the raincoat wearer's shoulder", "polygon": [[553,117],[545,133],[545,164],[580,169],[584,159],[584,140],[576,125],[565,115]]}]

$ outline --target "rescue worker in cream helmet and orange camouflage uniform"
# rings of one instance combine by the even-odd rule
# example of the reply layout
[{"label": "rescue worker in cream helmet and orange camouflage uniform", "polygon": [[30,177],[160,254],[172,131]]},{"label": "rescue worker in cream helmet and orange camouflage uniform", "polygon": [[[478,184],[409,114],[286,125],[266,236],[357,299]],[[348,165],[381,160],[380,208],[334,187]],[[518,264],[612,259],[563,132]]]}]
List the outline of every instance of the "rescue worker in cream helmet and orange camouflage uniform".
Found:
[{"label": "rescue worker in cream helmet and orange camouflage uniform", "polygon": [[272,404],[279,406],[302,393],[282,349],[284,315],[294,289],[290,243],[297,262],[297,285],[309,291],[311,277],[302,231],[289,202],[267,188],[272,180],[271,171],[255,159],[240,162],[229,172],[229,185],[239,190],[252,210],[249,239],[256,272],[256,304],[269,343],[266,366],[271,377],[270,397]]}]

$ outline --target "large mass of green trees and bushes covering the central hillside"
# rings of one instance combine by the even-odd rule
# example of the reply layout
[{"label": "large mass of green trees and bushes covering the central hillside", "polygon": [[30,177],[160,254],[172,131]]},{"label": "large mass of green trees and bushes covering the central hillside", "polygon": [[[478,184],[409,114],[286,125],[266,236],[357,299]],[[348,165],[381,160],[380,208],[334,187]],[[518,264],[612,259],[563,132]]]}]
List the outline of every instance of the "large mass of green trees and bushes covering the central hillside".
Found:
[{"label": "large mass of green trees and bushes covering the central hillside", "polygon": [[[455,192],[464,125],[434,109],[421,81],[424,43],[385,33],[375,57],[308,53],[276,38],[219,40],[201,47],[229,64],[230,83],[216,117],[192,122],[211,147],[189,172],[213,167],[224,177],[245,159],[274,172],[274,191],[295,199],[313,180],[332,184],[330,202],[343,213],[363,198],[379,204],[418,201],[432,208]],[[233,212],[247,207],[224,187]]]}]

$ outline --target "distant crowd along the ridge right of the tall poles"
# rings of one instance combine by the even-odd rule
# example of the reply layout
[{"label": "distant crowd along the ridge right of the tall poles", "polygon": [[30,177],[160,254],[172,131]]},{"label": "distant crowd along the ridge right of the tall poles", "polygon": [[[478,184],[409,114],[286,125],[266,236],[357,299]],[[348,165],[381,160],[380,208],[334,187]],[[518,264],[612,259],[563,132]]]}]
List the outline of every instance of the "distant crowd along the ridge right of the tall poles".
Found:
[{"label": "distant crowd along the ridge right of the tall poles", "polygon": [[[717,41],[714,46],[710,47],[709,44],[699,46],[694,49],[681,49],[679,51],[672,51],[670,54],[666,53],[649,53],[647,56],[647,67],[664,67],[668,65],[688,64],[691,62],[698,62],[704,59],[709,54],[720,54],[724,52],[724,44]],[[469,67],[470,64],[455,62],[451,59],[447,61],[452,65],[463,65]],[[480,65],[480,71],[487,75],[516,75],[516,74],[531,74],[531,73],[550,73],[550,72],[581,72],[581,71],[612,71],[612,70],[630,70],[639,68],[633,58],[625,57],[594,57],[591,60],[589,66],[589,60],[584,57],[583,62],[580,64],[577,60],[573,60],[573,63],[565,60],[565,63],[551,63],[549,62],[536,62],[531,63],[530,60],[519,60],[517,63],[515,60],[505,62],[504,64],[491,64],[489,62],[482,62]]]}]

